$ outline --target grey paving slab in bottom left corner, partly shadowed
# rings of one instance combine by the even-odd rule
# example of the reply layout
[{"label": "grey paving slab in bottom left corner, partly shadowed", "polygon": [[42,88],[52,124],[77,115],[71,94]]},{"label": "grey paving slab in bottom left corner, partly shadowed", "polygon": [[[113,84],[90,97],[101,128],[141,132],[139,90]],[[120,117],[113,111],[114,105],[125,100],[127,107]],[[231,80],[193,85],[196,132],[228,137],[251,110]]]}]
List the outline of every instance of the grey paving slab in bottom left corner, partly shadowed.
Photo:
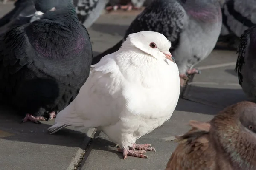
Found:
[{"label": "grey paving slab in bottom left corner, partly shadowed", "polygon": [[20,124],[21,119],[10,108],[0,107],[0,170],[71,170],[90,141],[86,133],[93,133],[71,127],[49,135],[47,128],[54,121]]}]

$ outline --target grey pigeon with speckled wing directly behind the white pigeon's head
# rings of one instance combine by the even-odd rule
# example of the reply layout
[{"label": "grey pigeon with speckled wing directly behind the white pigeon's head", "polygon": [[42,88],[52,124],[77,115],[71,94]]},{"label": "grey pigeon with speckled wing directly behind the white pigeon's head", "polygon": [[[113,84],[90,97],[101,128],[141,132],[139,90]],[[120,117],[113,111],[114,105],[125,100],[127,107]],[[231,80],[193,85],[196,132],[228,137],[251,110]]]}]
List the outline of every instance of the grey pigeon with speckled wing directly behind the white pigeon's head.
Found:
[{"label": "grey pigeon with speckled wing directly behind the white pigeon's head", "polygon": [[218,0],[154,0],[129,26],[115,46],[93,59],[96,64],[107,54],[117,51],[128,34],[156,31],[171,42],[180,77],[199,73],[192,67],[205,59],[215,47],[221,31],[221,7]]}]

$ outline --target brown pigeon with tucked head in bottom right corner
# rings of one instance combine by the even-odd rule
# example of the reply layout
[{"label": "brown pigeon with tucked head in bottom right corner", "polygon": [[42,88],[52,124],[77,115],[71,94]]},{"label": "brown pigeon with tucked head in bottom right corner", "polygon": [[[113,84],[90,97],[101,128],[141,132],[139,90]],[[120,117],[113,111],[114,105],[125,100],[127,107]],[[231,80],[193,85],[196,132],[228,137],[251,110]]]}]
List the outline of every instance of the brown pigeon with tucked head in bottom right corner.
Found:
[{"label": "brown pigeon with tucked head in bottom right corner", "polygon": [[239,102],[209,122],[190,121],[165,170],[256,170],[256,104]]}]

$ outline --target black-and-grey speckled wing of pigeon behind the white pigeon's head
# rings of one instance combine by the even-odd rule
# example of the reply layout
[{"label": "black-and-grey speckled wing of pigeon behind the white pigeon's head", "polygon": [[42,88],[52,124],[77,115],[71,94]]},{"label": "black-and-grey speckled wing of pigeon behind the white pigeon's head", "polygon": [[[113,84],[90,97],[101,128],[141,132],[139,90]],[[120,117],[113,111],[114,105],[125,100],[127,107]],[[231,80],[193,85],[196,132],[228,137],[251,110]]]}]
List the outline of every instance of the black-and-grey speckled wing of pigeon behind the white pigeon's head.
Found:
[{"label": "black-and-grey speckled wing of pigeon behind the white pigeon's head", "polygon": [[154,0],[134,19],[125,38],[131,33],[156,31],[166,36],[172,42],[172,48],[175,48],[187,21],[186,11],[177,0]]}]

